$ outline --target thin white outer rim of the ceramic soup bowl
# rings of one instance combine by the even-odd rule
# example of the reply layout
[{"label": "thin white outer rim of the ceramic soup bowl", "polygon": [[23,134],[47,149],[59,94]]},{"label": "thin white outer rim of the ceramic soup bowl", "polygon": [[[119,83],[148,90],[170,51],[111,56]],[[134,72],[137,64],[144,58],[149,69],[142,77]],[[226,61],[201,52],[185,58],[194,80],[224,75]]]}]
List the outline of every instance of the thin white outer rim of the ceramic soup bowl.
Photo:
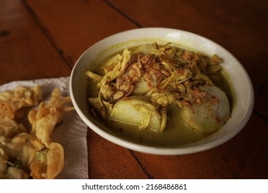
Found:
[{"label": "thin white outer rim of the ceramic soup bowl", "polygon": [[[208,43],[212,43],[212,45],[216,45],[221,50],[224,50],[227,54],[230,55],[230,57],[232,57],[232,59],[234,59],[236,61],[236,63],[241,68],[242,73],[246,77],[246,81],[247,81],[246,84],[249,87],[250,93],[249,93],[249,101],[248,101],[249,106],[247,108],[247,112],[245,113],[245,116],[243,116],[243,119],[241,120],[241,122],[238,123],[238,125],[236,125],[235,130],[233,130],[232,132],[229,132],[227,135],[223,136],[220,140],[211,141],[210,143],[204,143],[204,144],[200,145],[197,142],[197,143],[190,143],[187,145],[180,145],[179,147],[163,147],[163,148],[161,148],[161,147],[155,147],[155,146],[150,146],[150,145],[142,145],[142,144],[138,144],[138,143],[133,143],[131,141],[125,141],[124,139],[120,139],[120,138],[118,138],[112,134],[109,134],[108,132],[105,132],[104,130],[98,128],[98,121],[93,121],[93,120],[90,121],[87,118],[87,116],[82,112],[78,103],[76,102],[74,92],[73,92],[73,81],[74,81],[75,71],[76,71],[77,66],[79,65],[80,59],[82,59],[82,57],[84,57],[85,54],[87,54],[87,52],[90,52],[90,50],[93,49],[94,46],[98,45],[99,43],[109,41],[109,39],[116,39],[118,37],[121,37],[123,34],[142,33],[145,31],[147,31],[147,32],[159,31],[159,32],[164,32],[164,33],[165,32],[178,32],[181,34],[188,34],[190,36],[202,39],[203,41],[208,41]],[[122,42],[124,42],[124,41],[122,41]],[[107,46],[107,48],[109,48],[109,46]],[[159,155],[192,154],[192,153],[202,152],[204,150],[209,150],[211,148],[215,148],[216,146],[219,146],[219,145],[225,143],[226,141],[229,141],[230,139],[232,139],[234,136],[236,136],[236,134],[238,134],[238,132],[240,132],[245,127],[245,125],[247,124],[247,121],[249,120],[250,116],[252,115],[252,111],[253,111],[253,107],[254,107],[254,89],[253,89],[252,81],[249,77],[249,74],[247,73],[247,71],[245,70],[243,65],[229,51],[227,51],[225,48],[223,48],[218,43],[215,43],[214,41],[212,41],[210,39],[202,37],[199,34],[194,34],[192,32],[173,29],[173,28],[137,28],[137,29],[133,29],[133,30],[126,30],[124,32],[112,34],[111,36],[106,37],[106,38],[94,43],[87,50],[85,50],[85,52],[83,52],[80,55],[80,57],[78,58],[78,60],[76,61],[75,65],[74,65],[74,68],[71,70],[70,81],[69,81],[69,91],[70,91],[71,101],[74,105],[74,108],[76,109],[76,112],[78,113],[78,115],[80,116],[82,121],[84,121],[91,130],[93,130],[94,132],[96,132],[97,134],[102,136],[104,139],[111,141],[112,143],[120,145],[124,148],[128,148],[130,150],[135,150],[137,152],[143,152],[143,153],[147,153],[147,154],[159,154]]]}]

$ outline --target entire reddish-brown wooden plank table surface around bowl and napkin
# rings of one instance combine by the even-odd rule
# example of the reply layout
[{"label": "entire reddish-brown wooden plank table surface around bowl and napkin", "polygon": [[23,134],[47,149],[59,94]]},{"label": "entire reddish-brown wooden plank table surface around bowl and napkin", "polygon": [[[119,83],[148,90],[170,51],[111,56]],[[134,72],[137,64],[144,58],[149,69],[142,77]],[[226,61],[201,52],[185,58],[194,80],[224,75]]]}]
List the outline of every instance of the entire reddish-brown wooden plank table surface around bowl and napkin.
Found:
[{"label": "entire reddish-brown wooden plank table surface around bowl and napkin", "polygon": [[144,27],[200,34],[241,61],[254,85],[245,128],[216,148],[157,156],[122,148],[90,129],[89,179],[267,179],[268,1],[0,0],[0,85],[69,76],[87,48]]}]

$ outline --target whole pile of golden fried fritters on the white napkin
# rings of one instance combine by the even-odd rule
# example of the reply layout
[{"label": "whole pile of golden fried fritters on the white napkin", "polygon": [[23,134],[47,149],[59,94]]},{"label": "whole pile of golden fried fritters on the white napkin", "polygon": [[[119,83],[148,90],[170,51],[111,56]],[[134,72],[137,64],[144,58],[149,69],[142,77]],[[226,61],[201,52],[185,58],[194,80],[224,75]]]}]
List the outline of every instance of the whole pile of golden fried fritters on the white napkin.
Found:
[{"label": "whole pile of golden fried fritters on the white napkin", "polygon": [[16,121],[23,116],[23,107],[38,104],[40,86],[19,87],[0,93],[0,179],[55,179],[63,170],[64,150],[50,139],[54,127],[62,121],[70,97],[62,97],[55,88],[49,103],[41,102],[31,110],[28,119],[32,131]]}]

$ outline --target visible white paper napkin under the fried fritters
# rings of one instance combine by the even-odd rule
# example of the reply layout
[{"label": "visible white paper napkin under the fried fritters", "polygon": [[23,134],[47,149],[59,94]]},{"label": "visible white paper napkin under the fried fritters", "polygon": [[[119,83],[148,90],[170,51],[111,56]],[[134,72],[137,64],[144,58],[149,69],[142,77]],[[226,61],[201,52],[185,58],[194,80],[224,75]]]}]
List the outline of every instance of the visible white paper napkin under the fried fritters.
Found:
[{"label": "visible white paper napkin under the fried fritters", "polygon": [[[58,87],[63,96],[69,95],[69,77],[54,79],[36,79],[30,81],[13,81],[0,85],[0,92],[12,90],[19,85],[33,87],[41,85],[43,100],[49,101],[54,88]],[[27,128],[30,123],[25,119],[23,123]],[[65,165],[58,179],[88,179],[87,156],[87,125],[80,119],[75,110],[66,112],[63,123],[57,126],[52,133],[52,141],[63,145],[65,152]]]}]

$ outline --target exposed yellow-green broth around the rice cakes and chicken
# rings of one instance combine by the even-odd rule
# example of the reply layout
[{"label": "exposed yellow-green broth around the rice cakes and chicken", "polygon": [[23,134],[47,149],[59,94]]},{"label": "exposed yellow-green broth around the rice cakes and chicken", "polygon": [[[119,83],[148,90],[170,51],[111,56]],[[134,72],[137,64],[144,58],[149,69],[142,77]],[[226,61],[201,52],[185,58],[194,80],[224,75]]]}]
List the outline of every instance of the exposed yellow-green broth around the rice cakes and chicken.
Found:
[{"label": "exposed yellow-green broth around the rice cakes and chicken", "polygon": [[[129,48],[131,52],[135,52],[137,47]],[[123,52],[123,51],[122,51]],[[119,52],[119,53],[122,53]],[[109,61],[111,57],[104,59],[99,65],[97,65],[96,69],[93,70],[94,73],[100,74],[104,76],[104,71],[102,67]],[[223,68],[218,70],[213,74],[216,76],[216,79],[213,79],[214,84],[221,88],[229,99],[230,102],[230,110],[234,106],[234,96],[232,92],[232,87],[227,79],[227,74],[224,72]],[[98,97],[99,90],[97,88],[98,81],[89,79],[87,94],[89,98]],[[168,105],[167,107],[168,119],[166,121],[166,127],[162,132],[155,132],[150,129],[137,129],[137,125],[132,125],[129,123],[122,123],[120,121],[106,120],[103,119],[102,123],[107,125],[112,132],[116,135],[120,136],[122,139],[127,139],[128,141],[132,141],[134,143],[153,145],[158,147],[164,146],[177,146],[184,145],[188,143],[193,143],[195,141],[199,141],[209,136],[212,132],[199,132],[190,128],[186,123],[182,121],[178,114],[178,109],[176,105]]]}]

